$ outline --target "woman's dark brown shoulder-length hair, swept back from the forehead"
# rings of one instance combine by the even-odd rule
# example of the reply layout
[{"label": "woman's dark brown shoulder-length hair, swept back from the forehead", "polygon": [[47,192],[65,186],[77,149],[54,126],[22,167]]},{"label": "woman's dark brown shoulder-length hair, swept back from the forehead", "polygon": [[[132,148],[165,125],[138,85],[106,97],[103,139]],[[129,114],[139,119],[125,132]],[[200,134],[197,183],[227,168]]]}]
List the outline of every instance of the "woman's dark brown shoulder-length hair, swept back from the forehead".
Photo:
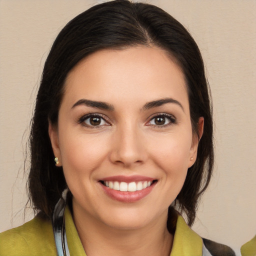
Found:
[{"label": "woman's dark brown shoulder-length hair, swept back from the forehead", "polygon": [[97,50],[136,45],[158,46],[181,67],[186,79],[192,128],[197,135],[198,118],[204,117],[196,161],[188,169],[175,200],[175,208],[186,213],[188,224],[194,221],[198,199],[209,183],[213,167],[211,104],[201,54],[187,30],[168,13],[154,5],[128,0],[101,3],[79,14],[60,31],[51,47],[30,132],[28,188],[35,212],[51,218],[54,205],[66,188],[62,168],[54,164],[48,120],[57,124],[67,73],[82,58]]}]

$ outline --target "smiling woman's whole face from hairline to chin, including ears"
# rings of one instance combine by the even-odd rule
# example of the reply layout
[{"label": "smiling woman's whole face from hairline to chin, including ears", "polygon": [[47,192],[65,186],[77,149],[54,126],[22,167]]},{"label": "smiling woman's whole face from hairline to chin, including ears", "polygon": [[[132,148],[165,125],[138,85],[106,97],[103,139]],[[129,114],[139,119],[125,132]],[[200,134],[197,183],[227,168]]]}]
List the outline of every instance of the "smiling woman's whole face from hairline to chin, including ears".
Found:
[{"label": "smiling woman's whole face from hairline to chin, including ears", "polygon": [[142,46],[80,61],[49,135],[74,215],[125,229],[166,220],[198,143],[182,71],[163,50]]}]

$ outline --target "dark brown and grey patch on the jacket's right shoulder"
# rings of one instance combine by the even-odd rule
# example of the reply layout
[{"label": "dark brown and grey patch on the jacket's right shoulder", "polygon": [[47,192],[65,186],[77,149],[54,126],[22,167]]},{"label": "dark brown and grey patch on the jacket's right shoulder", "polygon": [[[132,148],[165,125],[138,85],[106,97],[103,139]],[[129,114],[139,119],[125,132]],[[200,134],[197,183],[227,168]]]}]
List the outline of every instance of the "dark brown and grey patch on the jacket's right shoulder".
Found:
[{"label": "dark brown and grey patch on the jacket's right shoulder", "polygon": [[203,241],[203,256],[235,256],[234,251],[227,245],[217,243],[205,238]]}]

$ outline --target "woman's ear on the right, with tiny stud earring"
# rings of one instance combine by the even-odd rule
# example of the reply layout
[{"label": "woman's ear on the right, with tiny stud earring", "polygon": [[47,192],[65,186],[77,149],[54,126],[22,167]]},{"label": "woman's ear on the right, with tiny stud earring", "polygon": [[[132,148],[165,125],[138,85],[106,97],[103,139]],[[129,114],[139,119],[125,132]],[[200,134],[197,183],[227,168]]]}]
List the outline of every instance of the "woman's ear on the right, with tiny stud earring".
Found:
[{"label": "woman's ear on the right, with tiny stud earring", "polygon": [[198,119],[197,122],[197,127],[198,127],[198,136],[197,134],[193,134],[192,137],[192,143],[191,143],[191,147],[189,150],[189,159],[188,159],[188,168],[191,167],[196,159],[197,156],[197,148],[198,148],[198,144],[199,141],[202,137],[202,133],[203,133],[203,123],[204,123],[204,118],[201,116]]}]

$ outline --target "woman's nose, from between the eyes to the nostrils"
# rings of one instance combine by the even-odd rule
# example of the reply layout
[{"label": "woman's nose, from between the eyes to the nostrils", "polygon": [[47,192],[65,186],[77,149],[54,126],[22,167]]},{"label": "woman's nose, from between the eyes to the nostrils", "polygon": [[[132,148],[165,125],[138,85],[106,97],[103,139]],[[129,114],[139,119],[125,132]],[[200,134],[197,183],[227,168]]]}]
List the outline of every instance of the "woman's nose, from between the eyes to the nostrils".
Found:
[{"label": "woman's nose, from between the eyes to the nostrils", "polygon": [[136,125],[126,124],[118,127],[112,138],[111,162],[124,167],[145,162],[147,154],[143,137]]}]

